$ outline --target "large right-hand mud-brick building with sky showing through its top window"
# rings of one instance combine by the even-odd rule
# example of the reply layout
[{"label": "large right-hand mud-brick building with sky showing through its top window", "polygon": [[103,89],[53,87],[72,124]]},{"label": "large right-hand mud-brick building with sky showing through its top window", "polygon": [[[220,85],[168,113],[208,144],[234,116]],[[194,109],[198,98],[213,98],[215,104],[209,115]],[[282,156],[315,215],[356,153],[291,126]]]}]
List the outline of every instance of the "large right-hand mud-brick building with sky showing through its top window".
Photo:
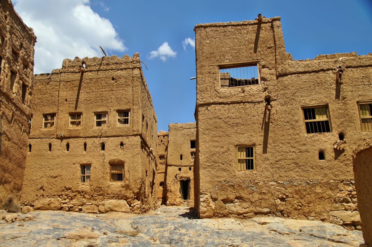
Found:
[{"label": "large right-hand mud-brick building with sky showing through its top window", "polygon": [[200,217],[359,228],[352,152],[372,134],[372,54],[292,60],[280,17],[194,30]]}]

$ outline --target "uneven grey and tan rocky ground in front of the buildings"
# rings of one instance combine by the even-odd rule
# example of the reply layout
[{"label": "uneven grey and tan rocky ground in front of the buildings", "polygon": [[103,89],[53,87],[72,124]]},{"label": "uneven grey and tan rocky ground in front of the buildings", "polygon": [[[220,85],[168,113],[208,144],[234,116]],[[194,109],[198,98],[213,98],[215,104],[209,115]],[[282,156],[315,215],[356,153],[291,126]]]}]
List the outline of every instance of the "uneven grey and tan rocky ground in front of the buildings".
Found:
[{"label": "uneven grey and tan rocky ground in front of the buildings", "polygon": [[189,208],[148,214],[0,211],[0,246],[359,246],[361,231],[273,217],[197,219]]}]

